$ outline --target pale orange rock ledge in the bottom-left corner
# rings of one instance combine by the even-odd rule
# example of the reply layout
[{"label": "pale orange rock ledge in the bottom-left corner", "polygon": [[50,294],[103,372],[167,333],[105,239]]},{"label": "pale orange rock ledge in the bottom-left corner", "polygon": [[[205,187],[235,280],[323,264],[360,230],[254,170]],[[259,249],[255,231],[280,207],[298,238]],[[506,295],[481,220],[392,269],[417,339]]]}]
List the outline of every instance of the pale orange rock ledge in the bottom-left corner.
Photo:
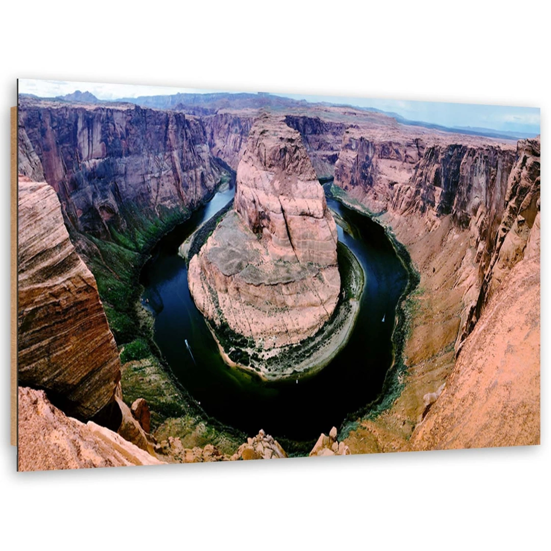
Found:
[{"label": "pale orange rock ledge in the bottom-left corner", "polygon": [[122,436],[67,417],[41,390],[19,387],[19,471],[158,465]]}]

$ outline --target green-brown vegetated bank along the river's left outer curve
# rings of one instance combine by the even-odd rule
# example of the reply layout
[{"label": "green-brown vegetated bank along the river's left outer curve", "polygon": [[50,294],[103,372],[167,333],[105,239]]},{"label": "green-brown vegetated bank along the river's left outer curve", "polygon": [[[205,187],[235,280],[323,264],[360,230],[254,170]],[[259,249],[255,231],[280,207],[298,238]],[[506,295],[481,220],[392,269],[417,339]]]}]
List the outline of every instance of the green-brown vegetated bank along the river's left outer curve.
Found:
[{"label": "green-brown vegetated bank along the river's left outer curve", "polygon": [[[114,332],[121,354],[121,388],[125,403],[145,398],[152,415],[152,434],[157,440],[180,437],[186,447],[215,442],[231,455],[246,439],[244,433],[210,418],[200,404],[182,387],[154,340],[154,316],[142,295],[141,273],[158,254],[159,242],[170,240],[171,233],[189,223],[212,199],[228,190],[228,179],[220,181],[193,211],[182,210],[158,223],[145,223],[148,239],[139,243],[118,236],[118,242],[100,241],[85,236],[98,246],[99,255],[89,260],[107,321]],[[222,193],[223,195],[223,193]]]}]

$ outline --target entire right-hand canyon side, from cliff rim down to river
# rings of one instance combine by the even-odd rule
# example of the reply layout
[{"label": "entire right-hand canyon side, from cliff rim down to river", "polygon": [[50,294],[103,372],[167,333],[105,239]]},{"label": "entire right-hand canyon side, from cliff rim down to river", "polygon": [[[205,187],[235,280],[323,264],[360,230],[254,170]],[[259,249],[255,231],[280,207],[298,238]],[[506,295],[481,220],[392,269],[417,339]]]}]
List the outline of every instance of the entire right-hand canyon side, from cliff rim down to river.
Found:
[{"label": "entire right-hand canyon side, from cliff rim down to river", "polygon": [[[515,147],[435,136],[417,163],[396,154],[390,167],[377,140],[365,142],[342,156],[335,182],[407,246],[420,284],[404,303],[407,380],[346,444],[353,453],[538,444],[539,138]],[[347,176],[361,172],[354,165],[371,177]]]}]

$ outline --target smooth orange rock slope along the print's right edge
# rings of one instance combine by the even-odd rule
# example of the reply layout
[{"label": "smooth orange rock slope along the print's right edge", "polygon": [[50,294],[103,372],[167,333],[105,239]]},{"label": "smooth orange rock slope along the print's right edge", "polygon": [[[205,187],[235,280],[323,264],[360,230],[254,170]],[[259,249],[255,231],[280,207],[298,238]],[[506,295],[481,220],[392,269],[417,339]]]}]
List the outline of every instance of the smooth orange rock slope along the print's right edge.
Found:
[{"label": "smooth orange rock slope along the print's right edge", "polygon": [[539,192],[540,142],[522,140],[470,331],[408,449],[539,444]]}]

